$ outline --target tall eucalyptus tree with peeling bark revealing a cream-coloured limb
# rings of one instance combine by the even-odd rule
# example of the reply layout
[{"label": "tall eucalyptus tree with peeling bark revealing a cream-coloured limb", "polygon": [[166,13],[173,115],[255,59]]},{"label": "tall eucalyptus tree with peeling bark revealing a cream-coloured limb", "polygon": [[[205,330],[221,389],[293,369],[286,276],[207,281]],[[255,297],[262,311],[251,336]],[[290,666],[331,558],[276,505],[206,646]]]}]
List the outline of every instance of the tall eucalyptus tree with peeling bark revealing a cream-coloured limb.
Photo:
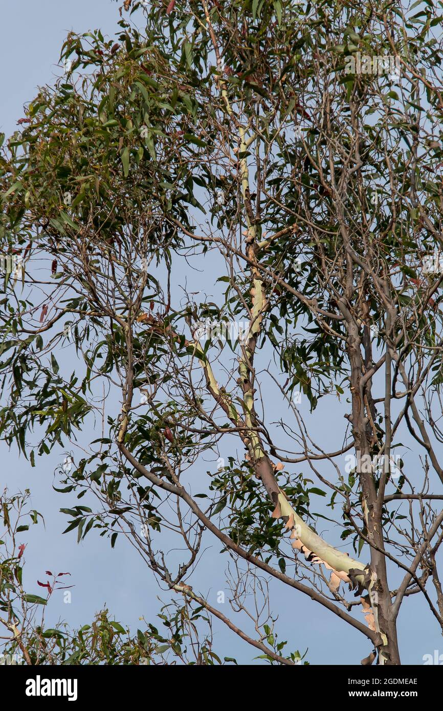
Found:
[{"label": "tall eucalyptus tree with peeling bark revealing a cream-coloured limb", "polygon": [[[1,240],[23,263],[1,302],[3,437],[32,466],[70,443],[61,491],[96,501],[65,509],[78,540],[126,535],[216,615],[186,582],[215,536],[234,610],[278,579],[365,635],[362,663],[399,664],[407,597],[443,629],[439,4],[124,9],[115,43],[70,33],[65,76],[1,159]],[[215,295],[178,288],[206,265]],[[101,437],[77,456],[90,422]],[[405,437],[420,477],[395,452]],[[164,530],[186,560],[157,550]],[[223,621],[269,661],[299,660],[269,620],[254,639]]]}]

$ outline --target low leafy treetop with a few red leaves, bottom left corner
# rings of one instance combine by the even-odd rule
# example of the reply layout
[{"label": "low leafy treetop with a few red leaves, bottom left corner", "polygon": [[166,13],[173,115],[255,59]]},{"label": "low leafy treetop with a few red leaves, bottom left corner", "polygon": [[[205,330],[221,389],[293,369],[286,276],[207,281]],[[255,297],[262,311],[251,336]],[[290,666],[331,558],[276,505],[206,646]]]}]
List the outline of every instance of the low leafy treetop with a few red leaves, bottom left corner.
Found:
[{"label": "low leafy treetop with a few red leaves, bottom left corner", "polygon": [[[137,630],[137,636],[115,620],[110,620],[108,610],[95,615],[92,624],[72,631],[67,624],[55,628],[45,623],[46,606],[56,590],[72,585],[64,584],[67,572],[53,574],[46,570],[46,597],[26,593],[23,589],[23,567],[26,544],[18,538],[30,525],[41,520],[38,511],[30,509],[30,493],[0,496],[4,533],[0,545],[4,547],[0,562],[0,624],[6,632],[1,635],[1,664],[28,665],[164,665],[181,661],[188,665],[222,664],[213,651],[210,619],[201,610],[191,610],[188,602],[181,606],[176,601],[165,605],[159,615],[166,627],[166,637],[150,623],[146,630]],[[64,580],[64,578],[63,578]],[[66,593],[65,593],[66,594]],[[141,618],[142,619],[142,618]],[[207,622],[206,636],[198,636],[196,621]],[[145,621],[143,619],[143,621]],[[225,661],[235,661],[226,659]]]}]

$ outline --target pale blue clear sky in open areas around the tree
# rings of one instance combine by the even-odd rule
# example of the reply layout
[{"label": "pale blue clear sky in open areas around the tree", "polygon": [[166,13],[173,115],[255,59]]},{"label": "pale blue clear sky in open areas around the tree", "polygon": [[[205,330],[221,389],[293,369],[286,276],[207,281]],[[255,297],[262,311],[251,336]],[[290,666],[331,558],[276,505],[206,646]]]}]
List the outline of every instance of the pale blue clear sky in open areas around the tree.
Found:
[{"label": "pale blue clear sky in open areas around the tree", "polygon": [[[58,55],[69,30],[81,32],[100,27],[103,34],[112,36],[118,19],[118,4],[111,0],[4,0],[0,30],[0,130],[6,134],[14,132],[17,119],[23,116],[23,103],[32,100],[38,85],[51,83],[60,73]],[[73,359],[71,370],[74,363]],[[333,444],[335,402],[330,400],[330,409],[324,410],[323,415],[326,451],[336,449]],[[281,415],[280,412],[274,416],[269,414],[270,419]],[[63,452],[53,452],[46,459],[38,459],[36,468],[31,469],[23,457],[18,459],[15,449],[8,451],[0,443],[1,488],[7,484],[11,493],[18,488],[30,488],[33,507],[41,511],[46,520],[46,529],[34,527],[29,536],[24,581],[27,591],[41,592],[36,580],[44,578],[45,570],[69,571],[70,583],[75,585],[72,603],[63,604],[60,592],[48,609],[50,624],[58,618],[65,619],[71,626],[87,624],[105,604],[116,619],[130,624],[132,629],[137,629],[140,616],[156,624],[155,614],[160,606],[157,596],[166,601],[168,594],[159,589],[153,574],[129,544],[119,539],[111,550],[107,540],[93,533],[81,545],[76,544],[74,535],[61,535],[67,518],[58,511],[68,506],[69,501],[66,496],[55,493],[52,485],[58,485],[54,470],[63,456]],[[217,541],[212,540],[210,544],[212,548],[196,579],[201,584],[201,593],[208,594],[211,604],[216,604],[217,591],[225,589],[224,567],[228,559],[218,555],[220,544]],[[301,593],[274,584],[271,592],[272,609],[279,615],[280,638],[288,638],[290,647],[298,647],[301,652],[309,647],[307,659],[311,663],[356,664],[368,655],[369,643],[363,636],[348,629],[336,616]],[[425,653],[432,654],[443,645],[432,615],[423,607],[419,613],[415,597],[418,596],[405,600],[400,613],[400,648],[403,663],[421,664]],[[225,608],[222,611],[229,615],[228,604]],[[225,626],[215,623],[214,629],[217,653],[235,656],[243,663],[255,656],[252,648]]]}]

